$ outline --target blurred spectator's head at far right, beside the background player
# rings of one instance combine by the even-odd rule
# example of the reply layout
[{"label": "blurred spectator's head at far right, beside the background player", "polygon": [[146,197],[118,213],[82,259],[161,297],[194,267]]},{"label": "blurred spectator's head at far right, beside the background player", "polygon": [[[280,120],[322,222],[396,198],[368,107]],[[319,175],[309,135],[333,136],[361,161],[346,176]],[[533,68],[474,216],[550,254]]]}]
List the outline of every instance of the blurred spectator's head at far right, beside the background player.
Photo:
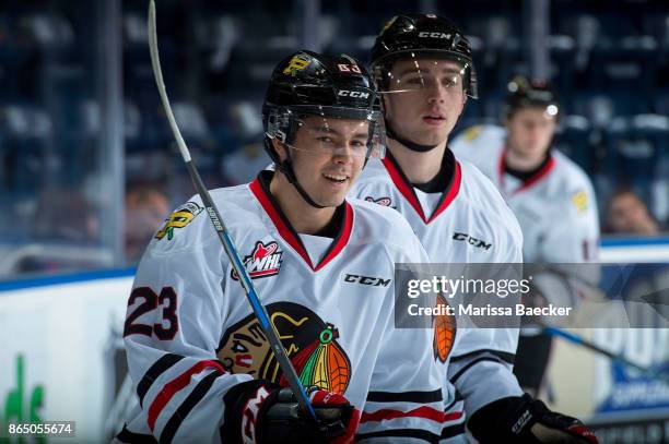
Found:
[{"label": "blurred spectator's head at far right, beside the background player", "polygon": [[644,201],[632,189],[621,188],[607,206],[605,232],[652,236],[660,227]]}]

